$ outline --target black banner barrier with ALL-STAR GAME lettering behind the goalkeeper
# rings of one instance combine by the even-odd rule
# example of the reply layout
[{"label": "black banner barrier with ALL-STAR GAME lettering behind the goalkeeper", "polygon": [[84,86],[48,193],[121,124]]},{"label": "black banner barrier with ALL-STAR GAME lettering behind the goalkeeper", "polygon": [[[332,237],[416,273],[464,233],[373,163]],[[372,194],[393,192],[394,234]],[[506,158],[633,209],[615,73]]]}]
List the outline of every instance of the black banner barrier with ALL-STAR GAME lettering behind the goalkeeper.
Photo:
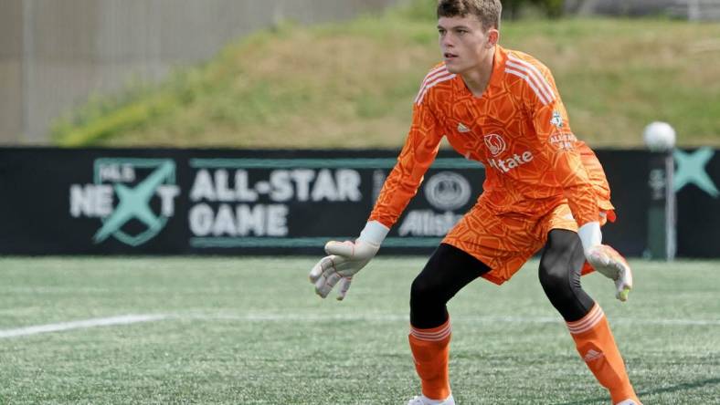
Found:
[{"label": "black banner barrier with ALL-STAR GAME lettering behind the goalkeeper", "polygon": [[[708,157],[709,155],[709,157]],[[647,151],[598,151],[619,220],[605,241],[647,251]],[[322,254],[363,227],[397,151],[0,148],[0,254]],[[720,256],[720,159],[676,151],[678,255]],[[440,151],[384,254],[428,254],[482,191]],[[678,181],[683,182],[679,184]]]}]

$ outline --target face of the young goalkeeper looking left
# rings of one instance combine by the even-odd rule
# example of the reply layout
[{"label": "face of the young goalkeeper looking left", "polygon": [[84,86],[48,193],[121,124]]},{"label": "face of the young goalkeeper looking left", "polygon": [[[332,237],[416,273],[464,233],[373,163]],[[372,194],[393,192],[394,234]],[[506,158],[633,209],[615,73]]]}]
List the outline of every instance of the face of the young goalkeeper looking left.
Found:
[{"label": "face of the young goalkeeper looking left", "polygon": [[496,29],[483,29],[475,16],[440,17],[438,33],[445,66],[457,74],[481,68],[483,61],[492,58],[498,38]]}]

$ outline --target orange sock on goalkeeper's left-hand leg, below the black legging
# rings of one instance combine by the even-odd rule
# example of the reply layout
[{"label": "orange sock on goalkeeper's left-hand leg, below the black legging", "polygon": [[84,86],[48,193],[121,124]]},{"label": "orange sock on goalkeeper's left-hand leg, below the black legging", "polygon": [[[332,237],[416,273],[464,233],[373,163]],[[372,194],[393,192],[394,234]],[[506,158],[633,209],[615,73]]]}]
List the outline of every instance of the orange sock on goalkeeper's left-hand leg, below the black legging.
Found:
[{"label": "orange sock on goalkeeper's left-hand leg, below the black legging", "polygon": [[448,358],[450,357],[450,318],[439,327],[418,329],[410,326],[410,349],[422,383],[422,394],[431,400],[450,396]]}]

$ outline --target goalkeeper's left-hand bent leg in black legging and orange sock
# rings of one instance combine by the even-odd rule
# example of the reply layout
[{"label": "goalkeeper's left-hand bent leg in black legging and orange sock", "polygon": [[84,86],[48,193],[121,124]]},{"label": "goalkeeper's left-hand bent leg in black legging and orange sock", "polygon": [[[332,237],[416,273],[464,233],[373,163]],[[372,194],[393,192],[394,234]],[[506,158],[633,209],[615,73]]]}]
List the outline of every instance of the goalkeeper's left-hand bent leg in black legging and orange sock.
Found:
[{"label": "goalkeeper's left-hand bent leg in black legging and orange sock", "polygon": [[408,340],[422,396],[409,403],[454,404],[448,378],[451,329],[446,304],[463,286],[488,270],[487,265],[470,254],[450,244],[440,244],[413,281]]}]

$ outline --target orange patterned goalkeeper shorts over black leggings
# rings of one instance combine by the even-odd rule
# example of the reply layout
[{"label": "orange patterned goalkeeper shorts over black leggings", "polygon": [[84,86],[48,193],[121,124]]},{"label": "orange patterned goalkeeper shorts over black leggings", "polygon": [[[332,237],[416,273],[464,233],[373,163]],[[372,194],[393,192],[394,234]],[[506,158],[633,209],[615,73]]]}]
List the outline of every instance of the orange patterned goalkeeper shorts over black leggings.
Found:
[{"label": "orange patterned goalkeeper shorts over black leggings", "polygon": [[[601,214],[600,223],[605,223],[606,219],[613,221],[614,213]],[[451,244],[488,265],[491,270],[482,276],[501,285],[545,246],[547,234],[553,229],[577,232],[577,223],[567,203],[535,216],[492,213],[482,203],[477,203],[442,243]]]}]

